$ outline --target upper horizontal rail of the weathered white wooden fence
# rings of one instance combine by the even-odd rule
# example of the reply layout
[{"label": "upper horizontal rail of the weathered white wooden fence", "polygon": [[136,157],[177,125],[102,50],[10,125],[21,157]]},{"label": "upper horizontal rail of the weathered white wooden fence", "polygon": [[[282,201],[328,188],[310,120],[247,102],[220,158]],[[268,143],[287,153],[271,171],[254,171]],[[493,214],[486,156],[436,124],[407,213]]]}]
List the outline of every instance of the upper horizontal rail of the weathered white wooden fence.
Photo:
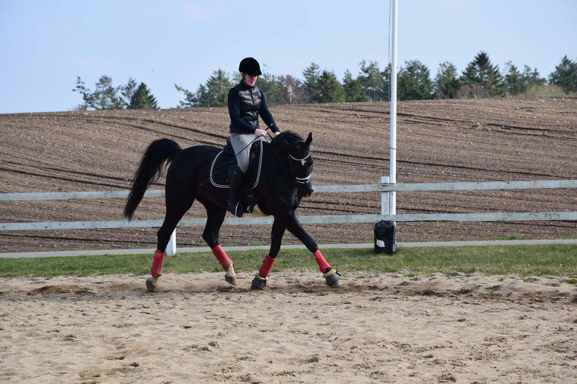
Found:
[{"label": "upper horizontal rail of the weathered white wooden fence", "polygon": [[[491,189],[550,189],[550,188],[577,188],[577,180],[479,181],[473,183],[313,185],[315,193],[487,191]],[[126,199],[126,197],[128,197],[128,193],[129,191],[0,193],[0,201]],[[152,189],[146,191],[144,193],[144,197],[164,197],[164,189]]]}]

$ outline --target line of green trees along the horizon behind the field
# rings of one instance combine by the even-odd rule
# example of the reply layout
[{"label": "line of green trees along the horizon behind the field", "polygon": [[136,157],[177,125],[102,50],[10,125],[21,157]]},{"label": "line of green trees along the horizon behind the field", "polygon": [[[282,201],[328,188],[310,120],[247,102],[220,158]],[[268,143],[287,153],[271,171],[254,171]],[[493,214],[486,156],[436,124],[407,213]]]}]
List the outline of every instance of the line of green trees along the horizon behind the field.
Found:
[{"label": "line of green trees along the horizon behind the field", "polygon": [[[263,75],[257,85],[267,97],[267,104],[307,104],[321,102],[389,101],[391,67],[381,69],[376,61],[362,60],[356,77],[346,70],[342,81],[334,71],[321,69],[311,63],[302,71],[302,79],[291,75],[274,75],[263,66]],[[183,94],[177,108],[224,107],[228,90],[241,80],[240,74],[213,71],[207,82],[195,92],[175,84]],[[129,78],[126,85],[114,88],[112,79],[102,76],[94,92],[87,89],[80,77],[74,92],[83,96],[79,109],[140,109],[158,108],[156,99],[145,83]],[[559,96],[577,92],[577,59],[564,56],[548,79],[537,68],[524,65],[523,69],[512,62],[505,63],[503,71],[481,51],[459,73],[454,64],[444,62],[432,79],[428,67],[419,60],[410,60],[399,68],[397,74],[398,100],[430,100],[447,98],[487,98],[505,96]]]}]

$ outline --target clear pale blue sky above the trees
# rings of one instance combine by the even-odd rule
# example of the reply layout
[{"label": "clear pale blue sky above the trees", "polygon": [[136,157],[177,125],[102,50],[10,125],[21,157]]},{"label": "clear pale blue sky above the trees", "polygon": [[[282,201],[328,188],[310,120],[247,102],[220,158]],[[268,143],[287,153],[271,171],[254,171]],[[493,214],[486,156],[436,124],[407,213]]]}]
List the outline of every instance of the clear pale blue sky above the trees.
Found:
[{"label": "clear pale blue sky above the trees", "polygon": [[[577,59],[575,0],[399,0],[399,67],[418,59],[431,77],[462,71],[479,51],[504,68],[547,77]],[[161,108],[195,91],[219,67],[253,56],[276,75],[302,77],[311,62],[340,79],[359,62],[389,60],[389,1],[0,0],[0,113],[69,111],[76,77],[145,82]]]}]

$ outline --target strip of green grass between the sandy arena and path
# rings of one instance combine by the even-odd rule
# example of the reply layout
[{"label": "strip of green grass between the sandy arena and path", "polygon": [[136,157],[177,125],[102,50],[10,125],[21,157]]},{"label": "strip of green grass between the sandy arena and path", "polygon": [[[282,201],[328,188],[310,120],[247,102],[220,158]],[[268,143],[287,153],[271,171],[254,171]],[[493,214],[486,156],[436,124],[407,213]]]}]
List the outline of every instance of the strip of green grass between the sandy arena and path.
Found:
[{"label": "strip of green grass between the sandy arena and path", "polygon": [[[226,247],[225,247],[226,249]],[[461,247],[407,247],[394,254],[376,254],[373,249],[321,250],[339,271],[399,272],[416,275],[433,273],[473,273],[520,276],[577,275],[577,245],[500,245]],[[266,252],[231,251],[235,271],[256,271]],[[87,276],[111,274],[148,275],[152,254],[80,257],[0,258],[3,277]],[[565,265],[565,267],[563,267]],[[282,249],[272,272],[284,269],[318,271],[314,258],[305,249]],[[165,273],[222,271],[211,252],[178,253],[166,257]]]}]

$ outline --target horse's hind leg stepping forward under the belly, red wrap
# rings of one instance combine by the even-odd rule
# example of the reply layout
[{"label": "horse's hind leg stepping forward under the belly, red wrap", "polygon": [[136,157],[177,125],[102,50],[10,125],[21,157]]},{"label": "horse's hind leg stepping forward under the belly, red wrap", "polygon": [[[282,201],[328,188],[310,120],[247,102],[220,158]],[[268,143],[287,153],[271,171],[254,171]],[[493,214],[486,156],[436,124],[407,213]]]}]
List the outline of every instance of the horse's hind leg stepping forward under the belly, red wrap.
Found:
[{"label": "horse's hind leg stepping forward under the belly, red wrap", "polygon": [[237,275],[234,273],[233,261],[228,258],[226,252],[224,252],[224,249],[220,246],[218,241],[220,227],[224,221],[224,216],[226,216],[226,210],[208,200],[199,199],[198,201],[203,203],[204,207],[207,208],[207,225],[204,227],[203,239],[207,242],[212,253],[226,272],[224,280],[235,286],[237,285]]}]

